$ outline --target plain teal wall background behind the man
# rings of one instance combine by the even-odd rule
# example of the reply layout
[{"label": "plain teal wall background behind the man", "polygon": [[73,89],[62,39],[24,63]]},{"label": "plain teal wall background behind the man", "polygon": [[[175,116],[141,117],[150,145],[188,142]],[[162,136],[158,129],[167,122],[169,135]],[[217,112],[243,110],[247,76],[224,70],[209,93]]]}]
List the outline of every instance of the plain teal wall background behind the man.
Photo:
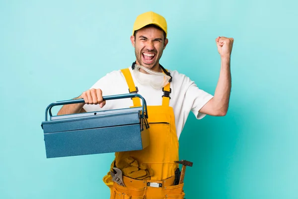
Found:
[{"label": "plain teal wall background behind the man", "polygon": [[[168,22],[161,58],[214,94],[215,38],[234,38],[224,117],[189,115],[187,199],[298,199],[298,12],[294,0],[0,0],[0,199],[107,199],[113,154],[46,159],[46,106],[134,61],[136,16]],[[57,111],[57,110],[55,110]]]}]

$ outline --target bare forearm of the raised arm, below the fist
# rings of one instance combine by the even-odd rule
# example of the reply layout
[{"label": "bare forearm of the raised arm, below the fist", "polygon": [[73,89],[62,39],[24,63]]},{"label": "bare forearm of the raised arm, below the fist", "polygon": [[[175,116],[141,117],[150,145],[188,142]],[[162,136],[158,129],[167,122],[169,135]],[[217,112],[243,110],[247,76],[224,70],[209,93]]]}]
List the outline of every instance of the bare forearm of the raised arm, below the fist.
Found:
[{"label": "bare forearm of the raised arm, below the fist", "polygon": [[220,115],[225,115],[231,91],[230,56],[221,58],[220,78],[214,94],[214,105]]}]

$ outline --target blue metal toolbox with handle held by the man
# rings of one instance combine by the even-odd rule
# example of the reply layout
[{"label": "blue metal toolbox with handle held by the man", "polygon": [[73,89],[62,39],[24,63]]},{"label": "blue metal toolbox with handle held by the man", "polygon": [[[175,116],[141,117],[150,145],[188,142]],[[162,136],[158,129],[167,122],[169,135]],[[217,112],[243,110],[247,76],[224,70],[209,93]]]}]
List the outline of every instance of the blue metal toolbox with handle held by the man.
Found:
[{"label": "blue metal toolbox with handle held by the man", "polygon": [[[104,100],[138,97],[143,106],[53,116],[56,105],[82,103],[83,99],[51,103],[42,122],[47,158],[142,150],[149,145],[146,100],[139,94],[106,96]],[[48,112],[50,119],[48,120]]]}]

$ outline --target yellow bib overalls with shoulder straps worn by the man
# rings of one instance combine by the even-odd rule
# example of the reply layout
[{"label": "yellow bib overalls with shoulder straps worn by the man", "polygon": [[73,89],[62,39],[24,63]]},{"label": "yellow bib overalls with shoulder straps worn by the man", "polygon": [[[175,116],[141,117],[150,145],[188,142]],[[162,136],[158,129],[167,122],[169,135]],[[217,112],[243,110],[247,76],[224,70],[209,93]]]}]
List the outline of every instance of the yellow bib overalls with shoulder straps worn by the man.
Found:
[{"label": "yellow bib overalls with shoulder straps worn by the man", "polygon": [[[136,91],[129,69],[121,70],[129,91]],[[170,84],[166,85],[164,91],[170,91]],[[134,106],[141,106],[139,98],[133,98]],[[175,185],[175,170],[179,160],[178,138],[175,127],[175,116],[173,108],[169,106],[169,97],[162,97],[162,105],[147,106],[149,121],[150,144],[143,150],[117,152],[115,160],[122,157],[132,157],[139,163],[144,163],[153,170],[150,180],[136,180],[123,176],[125,187],[113,183],[111,176],[103,178],[104,183],[111,190],[110,199],[183,199],[183,185]],[[150,186],[151,183],[159,183],[158,188]]]}]

